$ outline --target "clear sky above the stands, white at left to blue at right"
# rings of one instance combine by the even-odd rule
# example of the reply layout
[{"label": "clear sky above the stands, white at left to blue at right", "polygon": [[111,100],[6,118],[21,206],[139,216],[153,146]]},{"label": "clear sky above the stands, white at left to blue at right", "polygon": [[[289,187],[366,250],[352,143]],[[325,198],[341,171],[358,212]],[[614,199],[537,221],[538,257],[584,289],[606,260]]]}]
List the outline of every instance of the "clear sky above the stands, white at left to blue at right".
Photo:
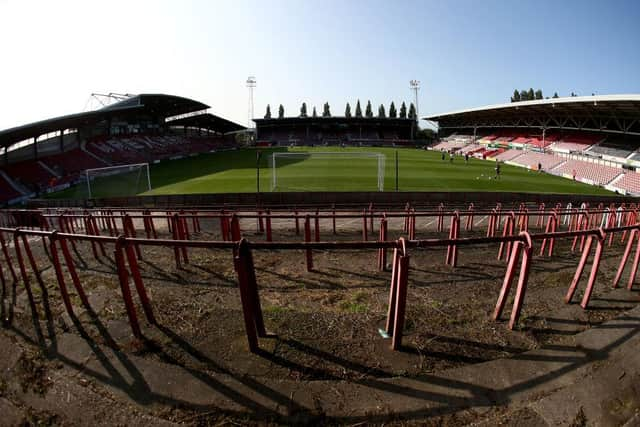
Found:
[{"label": "clear sky above the stands, white at left to blue at right", "polygon": [[267,103],[420,114],[545,95],[640,92],[640,1],[0,0],[0,129],[74,113],[91,92],[193,97],[247,121]]}]

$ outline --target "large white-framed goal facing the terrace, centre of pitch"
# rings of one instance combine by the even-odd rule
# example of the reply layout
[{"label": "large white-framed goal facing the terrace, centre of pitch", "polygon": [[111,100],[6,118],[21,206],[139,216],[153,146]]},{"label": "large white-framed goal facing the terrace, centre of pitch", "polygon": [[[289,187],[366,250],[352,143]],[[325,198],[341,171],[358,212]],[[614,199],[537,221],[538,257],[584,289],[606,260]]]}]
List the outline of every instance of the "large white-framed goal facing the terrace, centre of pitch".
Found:
[{"label": "large white-framed goal facing the terrace, centre of pitch", "polygon": [[383,191],[385,155],[367,152],[276,152],[271,191]]}]

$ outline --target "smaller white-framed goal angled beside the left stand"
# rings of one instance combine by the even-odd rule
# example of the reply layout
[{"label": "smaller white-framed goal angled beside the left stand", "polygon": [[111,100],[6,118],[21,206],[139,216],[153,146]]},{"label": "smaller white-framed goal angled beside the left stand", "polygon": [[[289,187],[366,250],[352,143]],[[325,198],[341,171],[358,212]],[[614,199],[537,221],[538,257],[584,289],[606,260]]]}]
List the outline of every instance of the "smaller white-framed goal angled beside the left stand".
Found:
[{"label": "smaller white-framed goal angled beside the left stand", "polygon": [[149,163],[87,169],[85,179],[89,198],[133,196],[151,190]]}]

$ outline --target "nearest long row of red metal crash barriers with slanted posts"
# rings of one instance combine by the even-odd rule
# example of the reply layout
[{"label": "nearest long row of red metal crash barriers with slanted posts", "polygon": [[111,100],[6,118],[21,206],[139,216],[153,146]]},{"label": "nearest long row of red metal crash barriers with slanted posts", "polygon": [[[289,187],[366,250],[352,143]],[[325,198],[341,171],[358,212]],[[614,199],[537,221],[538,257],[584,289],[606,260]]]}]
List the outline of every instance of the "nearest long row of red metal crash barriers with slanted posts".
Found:
[{"label": "nearest long row of red metal crash barriers with slanted posts", "polygon": [[[176,218],[174,216],[174,218]],[[454,221],[458,220],[457,216],[454,216]],[[385,221],[383,218],[382,221]],[[237,222],[237,219],[236,219]],[[89,228],[92,228],[90,225]],[[127,227],[125,226],[125,230]],[[173,230],[179,235],[179,230],[182,226],[179,222],[174,223]],[[456,228],[452,228],[454,230]],[[234,231],[235,230],[235,231]],[[309,230],[309,231],[307,231]],[[628,258],[632,251],[633,245],[636,245],[636,253],[634,256],[632,268],[629,273],[628,288],[634,283],[638,263],[640,262],[640,225],[634,224],[629,226],[611,227],[611,228],[594,228],[594,229],[576,229],[573,231],[556,231],[551,233],[530,234],[527,231],[522,231],[513,235],[493,236],[493,237],[471,237],[460,238],[453,234],[453,238],[449,239],[423,239],[423,240],[407,240],[400,238],[395,241],[387,241],[384,239],[385,225],[381,227],[380,241],[352,241],[352,242],[249,242],[247,239],[242,238],[238,234],[237,226],[232,226],[232,241],[194,241],[194,240],[179,240],[179,239],[149,239],[149,238],[136,238],[120,235],[118,237],[112,236],[98,236],[88,234],[75,234],[59,232],[56,230],[28,230],[20,228],[0,228],[0,246],[2,249],[2,256],[4,257],[4,265],[10,273],[14,283],[18,282],[18,273],[22,279],[25,290],[27,292],[31,309],[34,315],[37,315],[37,308],[33,299],[33,293],[31,290],[31,284],[29,275],[26,269],[26,263],[28,262],[31,270],[33,271],[37,282],[44,290],[46,285],[40,275],[40,269],[37,265],[36,258],[33,256],[33,252],[30,246],[30,239],[37,240],[42,239],[45,252],[49,255],[49,259],[53,265],[58,287],[63,299],[64,306],[70,315],[73,315],[73,306],[71,298],[67,290],[67,279],[65,278],[63,264],[66,266],[68,275],[71,277],[71,282],[76,289],[78,296],[86,307],[89,307],[89,301],[83,290],[79,276],[76,271],[75,261],[69,247],[74,247],[79,242],[88,242],[92,246],[92,253],[96,259],[100,259],[101,256],[105,256],[105,244],[114,245],[113,256],[115,260],[115,268],[120,284],[120,290],[122,298],[131,326],[133,335],[136,338],[142,338],[142,331],[138,321],[138,316],[133,303],[132,291],[130,287],[130,281],[133,281],[136,293],[139,297],[144,314],[148,322],[152,325],[156,324],[156,320],[151,307],[150,299],[146,292],[145,285],[140,274],[138,266],[138,260],[142,258],[143,251],[141,247],[166,247],[171,248],[174,251],[177,268],[182,268],[182,264],[188,264],[188,252],[187,249],[206,248],[206,249],[222,249],[229,250],[233,254],[234,267],[238,278],[238,287],[240,291],[242,312],[245,322],[245,328],[247,333],[247,339],[249,342],[249,348],[251,351],[257,351],[258,338],[266,337],[268,334],[264,328],[264,320],[262,317],[262,310],[260,306],[260,297],[258,291],[258,284],[256,280],[255,267],[253,263],[253,254],[255,250],[303,250],[305,257],[307,258],[307,268],[313,269],[312,251],[314,250],[376,250],[377,253],[377,265],[380,268],[384,265],[381,262],[381,258],[386,257],[388,250],[393,250],[392,267],[391,267],[391,281],[389,287],[389,305],[386,323],[386,334],[391,337],[391,346],[393,349],[399,349],[402,345],[402,334],[404,330],[404,321],[407,305],[407,287],[409,278],[409,250],[413,249],[430,249],[437,247],[447,247],[447,263],[455,266],[457,259],[457,248],[461,246],[472,245],[486,245],[490,243],[499,243],[501,247],[503,245],[509,245],[506,253],[507,267],[505,270],[505,276],[502,282],[500,294],[496,303],[495,310],[493,312],[493,319],[498,320],[502,314],[505,303],[508,299],[516,270],[518,272],[518,283],[516,286],[516,293],[514,297],[511,316],[509,319],[509,328],[513,329],[518,322],[520,311],[524,303],[524,297],[526,293],[526,287],[528,283],[529,271],[531,268],[531,262],[533,257],[533,242],[545,242],[554,239],[570,239],[584,238],[585,243],[582,247],[582,255],[576,268],[573,279],[569,285],[569,289],[565,295],[565,303],[569,303],[575,294],[578,283],[582,277],[585,269],[587,259],[590,256],[591,249],[595,242],[595,254],[593,256],[591,271],[585,288],[584,296],[580,305],[586,308],[590,296],[593,292],[596,276],[600,264],[600,259],[604,251],[605,238],[607,235],[613,233],[629,233],[629,239],[625,247],[624,254],[620,261],[616,279],[613,286],[617,286],[619,280],[622,277],[623,271],[626,267]],[[9,244],[5,240],[5,234],[11,236]],[[310,221],[308,218],[305,222],[305,234],[310,234]],[[14,268],[14,262],[10,253],[11,244],[13,243],[13,249],[15,258],[17,260],[17,269]],[[76,248],[77,249],[77,248]],[[23,255],[24,251],[24,255]],[[383,255],[384,254],[384,255]],[[4,268],[0,263],[0,278],[2,280],[2,286],[5,286],[5,273]],[[519,267],[518,267],[519,265]]]}]

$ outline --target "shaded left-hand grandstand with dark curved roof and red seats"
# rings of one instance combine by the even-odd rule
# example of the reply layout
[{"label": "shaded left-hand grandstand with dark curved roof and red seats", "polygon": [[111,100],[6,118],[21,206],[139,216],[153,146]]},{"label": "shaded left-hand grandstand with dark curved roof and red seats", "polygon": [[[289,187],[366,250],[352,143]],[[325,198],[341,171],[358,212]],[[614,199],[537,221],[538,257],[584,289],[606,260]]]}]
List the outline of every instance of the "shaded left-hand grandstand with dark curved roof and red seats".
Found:
[{"label": "shaded left-hand grandstand with dark curved roof and red seats", "polygon": [[245,128],[208,108],[178,96],[141,94],[0,131],[0,204],[69,186],[87,169],[236,147],[235,133]]}]

